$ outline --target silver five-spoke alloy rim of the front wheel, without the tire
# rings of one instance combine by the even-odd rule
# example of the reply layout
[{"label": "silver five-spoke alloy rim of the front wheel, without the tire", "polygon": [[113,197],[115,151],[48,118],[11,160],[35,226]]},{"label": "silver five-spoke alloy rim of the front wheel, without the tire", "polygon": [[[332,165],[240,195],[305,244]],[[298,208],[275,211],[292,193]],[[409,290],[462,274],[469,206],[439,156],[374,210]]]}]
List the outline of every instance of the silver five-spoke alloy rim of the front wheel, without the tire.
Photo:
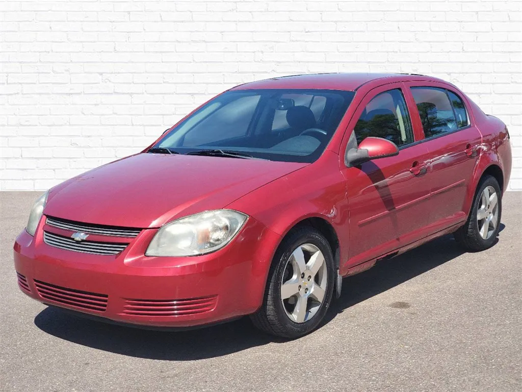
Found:
[{"label": "silver five-spoke alloy rim of the front wheel, without the tire", "polygon": [[281,301],[290,320],[301,323],[315,316],[326,295],[327,279],[319,248],[303,244],[292,252],[281,280]]}]

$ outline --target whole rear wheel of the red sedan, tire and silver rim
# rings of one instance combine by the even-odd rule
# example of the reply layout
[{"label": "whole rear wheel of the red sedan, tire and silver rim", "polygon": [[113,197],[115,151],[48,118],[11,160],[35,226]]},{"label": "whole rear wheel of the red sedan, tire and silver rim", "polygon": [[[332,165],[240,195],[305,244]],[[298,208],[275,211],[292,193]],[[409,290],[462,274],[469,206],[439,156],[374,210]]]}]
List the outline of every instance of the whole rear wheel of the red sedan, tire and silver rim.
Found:
[{"label": "whole rear wheel of the red sedan, tire and silver rim", "polygon": [[[484,194],[486,189],[488,189],[489,203],[485,201],[487,198],[487,195]],[[496,194],[496,204],[491,200],[492,190]],[[479,219],[484,214],[487,216],[484,218],[485,221]],[[492,216],[492,220],[489,221]],[[496,219],[494,219],[495,216]],[[466,224],[454,233],[455,240],[461,247],[472,252],[491,248],[495,244],[497,235],[499,235],[501,217],[502,191],[499,182],[493,176],[484,176],[477,187]],[[485,224],[488,227],[485,227]]]}]

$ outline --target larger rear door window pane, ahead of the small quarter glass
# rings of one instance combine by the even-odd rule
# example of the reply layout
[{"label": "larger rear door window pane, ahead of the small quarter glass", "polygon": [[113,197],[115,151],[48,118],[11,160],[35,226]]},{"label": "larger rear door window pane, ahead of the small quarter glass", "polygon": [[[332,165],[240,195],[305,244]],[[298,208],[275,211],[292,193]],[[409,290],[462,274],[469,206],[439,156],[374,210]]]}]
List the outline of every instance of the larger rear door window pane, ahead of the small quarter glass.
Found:
[{"label": "larger rear door window pane, ahead of the small quarter glass", "polygon": [[441,135],[458,129],[452,103],[446,90],[435,87],[411,87],[425,137]]}]

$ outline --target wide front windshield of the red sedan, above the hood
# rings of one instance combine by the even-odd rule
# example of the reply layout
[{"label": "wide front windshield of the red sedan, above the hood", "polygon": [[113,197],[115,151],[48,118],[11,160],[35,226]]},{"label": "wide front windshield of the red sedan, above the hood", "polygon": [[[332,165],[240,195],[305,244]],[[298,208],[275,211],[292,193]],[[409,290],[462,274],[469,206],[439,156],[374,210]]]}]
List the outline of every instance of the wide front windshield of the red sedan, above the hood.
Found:
[{"label": "wide front windshield of the red sedan, above the hood", "polygon": [[153,147],[173,153],[234,152],[286,162],[314,162],[345,114],[353,91],[227,91],[199,108]]}]

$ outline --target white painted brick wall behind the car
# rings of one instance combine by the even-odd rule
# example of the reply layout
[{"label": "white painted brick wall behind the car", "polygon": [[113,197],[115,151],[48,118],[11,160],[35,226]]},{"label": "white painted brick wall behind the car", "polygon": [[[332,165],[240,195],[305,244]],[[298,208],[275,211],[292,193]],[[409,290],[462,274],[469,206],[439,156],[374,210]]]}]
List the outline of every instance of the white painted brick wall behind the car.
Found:
[{"label": "white painted brick wall behind the car", "polygon": [[411,72],[509,126],[522,190],[520,1],[0,2],[0,189],[139,151],[207,98],[313,72]]}]

